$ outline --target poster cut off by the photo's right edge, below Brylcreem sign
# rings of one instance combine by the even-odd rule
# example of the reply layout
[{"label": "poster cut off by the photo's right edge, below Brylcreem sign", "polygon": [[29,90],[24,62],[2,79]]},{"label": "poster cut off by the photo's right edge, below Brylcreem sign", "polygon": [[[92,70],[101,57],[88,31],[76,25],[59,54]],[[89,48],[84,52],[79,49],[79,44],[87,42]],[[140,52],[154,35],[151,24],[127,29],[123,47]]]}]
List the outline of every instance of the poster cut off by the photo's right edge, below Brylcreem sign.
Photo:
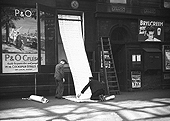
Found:
[{"label": "poster cut off by the photo's right edge, below Brylcreem sign", "polygon": [[170,70],[170,46],[169,46],[169,49],[165,48],[165,70]]}]

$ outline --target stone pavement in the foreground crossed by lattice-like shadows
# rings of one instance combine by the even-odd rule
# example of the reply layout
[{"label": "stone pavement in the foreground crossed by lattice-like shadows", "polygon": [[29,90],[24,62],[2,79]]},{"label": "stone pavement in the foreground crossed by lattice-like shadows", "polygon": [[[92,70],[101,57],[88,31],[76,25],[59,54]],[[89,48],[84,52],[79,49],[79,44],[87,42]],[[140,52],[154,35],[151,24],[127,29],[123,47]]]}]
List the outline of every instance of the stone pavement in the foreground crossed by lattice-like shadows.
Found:
[{"label": "stone pavement in the foreground crossed by lattice-like shadows", "polygon": [[42,104],[0,99],[1,121],[170,121],[170,89],[122,92],[114,100],[76,103],[46,97]]}]

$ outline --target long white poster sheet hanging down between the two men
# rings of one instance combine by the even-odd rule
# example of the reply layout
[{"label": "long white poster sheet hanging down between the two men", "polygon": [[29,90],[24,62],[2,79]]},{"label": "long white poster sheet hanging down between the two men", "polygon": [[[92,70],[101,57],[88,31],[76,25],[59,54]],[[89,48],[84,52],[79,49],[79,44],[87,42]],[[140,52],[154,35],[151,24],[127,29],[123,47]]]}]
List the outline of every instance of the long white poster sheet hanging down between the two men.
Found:
[{"label": "long white poster sheet hanging down between the two men", "polygon": [[[66,57],[73,76],[75,92],[79,94],[92,76],[82,37],[81,21],[59,20],[59,29]],[[81,98],[90,98],[88,90]]]}]

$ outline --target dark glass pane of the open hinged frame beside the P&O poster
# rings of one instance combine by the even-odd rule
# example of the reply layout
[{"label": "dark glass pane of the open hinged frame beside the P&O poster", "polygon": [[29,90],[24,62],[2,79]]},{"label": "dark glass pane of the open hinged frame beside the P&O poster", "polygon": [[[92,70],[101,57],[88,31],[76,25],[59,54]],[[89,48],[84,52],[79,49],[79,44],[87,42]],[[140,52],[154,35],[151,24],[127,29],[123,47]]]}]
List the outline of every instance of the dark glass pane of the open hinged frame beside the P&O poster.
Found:
[{"label": "dark glass pane of the open hinged frame beside the P&O poster", "polygon": [[40,11],[41,65],[55,64],[55,15]]}]

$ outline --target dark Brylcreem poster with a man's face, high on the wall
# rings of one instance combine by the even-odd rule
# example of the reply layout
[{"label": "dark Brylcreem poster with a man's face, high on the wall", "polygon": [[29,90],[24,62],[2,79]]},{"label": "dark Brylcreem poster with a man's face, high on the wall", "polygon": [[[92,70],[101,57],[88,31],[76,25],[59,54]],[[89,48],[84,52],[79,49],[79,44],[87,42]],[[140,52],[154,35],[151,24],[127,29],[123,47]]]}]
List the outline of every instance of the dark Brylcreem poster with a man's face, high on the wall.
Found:
[{"label": "dark Brylcreem poster with a man's face, high on the wall", "polygon": [[138,41],[161,42],[164,39],[164,22],[158,20],[139,20]]}]

